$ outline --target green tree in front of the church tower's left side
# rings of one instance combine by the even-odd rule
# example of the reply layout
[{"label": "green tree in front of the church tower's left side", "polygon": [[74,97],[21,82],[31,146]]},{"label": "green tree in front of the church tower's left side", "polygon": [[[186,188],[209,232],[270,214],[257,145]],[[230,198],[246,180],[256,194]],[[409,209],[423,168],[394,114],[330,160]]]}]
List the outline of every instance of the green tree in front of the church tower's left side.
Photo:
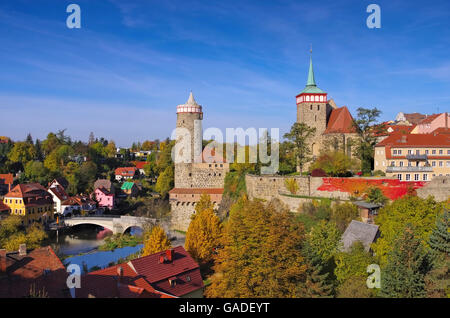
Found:
[{"label": "green tree in front of the church tower's left side", "polygon": [[291,127],[291,131],[284,134],[284,138],[290,141],[290,151],[294,153],[296,164],[300,169],[300,174],[303,172],[304,165],[312,160],[312,157],[310,157],[311,149],[308,140],[315,132],[315,127],[309,127],[305,123],[294,123]]}]

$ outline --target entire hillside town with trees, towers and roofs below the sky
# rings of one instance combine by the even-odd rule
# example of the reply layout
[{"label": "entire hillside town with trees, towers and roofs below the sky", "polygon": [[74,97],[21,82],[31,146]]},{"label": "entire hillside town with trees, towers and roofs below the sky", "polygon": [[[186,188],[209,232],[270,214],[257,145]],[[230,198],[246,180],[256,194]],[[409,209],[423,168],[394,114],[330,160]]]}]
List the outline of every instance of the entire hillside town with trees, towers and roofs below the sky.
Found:
[{"label": "entire hillside town with trees, towers and roofs below the sky", "polygon": [[[448,297],[450,113],[352,115],[312,57],[295,101],[275,174],[206,147],[195,127],[214,114],[192,92],[176,140],[0,137],[0,297]],[[64,252],[88,232],[102,245]],[[381,288],[366,285],[371,264]]]}]

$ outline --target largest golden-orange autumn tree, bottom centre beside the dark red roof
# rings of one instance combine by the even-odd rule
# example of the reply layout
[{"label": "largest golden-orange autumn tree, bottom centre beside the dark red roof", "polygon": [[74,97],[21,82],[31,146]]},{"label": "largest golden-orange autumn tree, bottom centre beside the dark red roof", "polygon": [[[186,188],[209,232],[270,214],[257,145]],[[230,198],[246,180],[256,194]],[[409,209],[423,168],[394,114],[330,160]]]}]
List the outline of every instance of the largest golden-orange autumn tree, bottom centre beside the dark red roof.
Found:
[{"label": "largest golden-orange autumn tree, bottom centre beside the dark red roof", "polygon": [[207,297],[298,297],[306,280],[301,223],[279,202],[245,196],[225,224]]}]

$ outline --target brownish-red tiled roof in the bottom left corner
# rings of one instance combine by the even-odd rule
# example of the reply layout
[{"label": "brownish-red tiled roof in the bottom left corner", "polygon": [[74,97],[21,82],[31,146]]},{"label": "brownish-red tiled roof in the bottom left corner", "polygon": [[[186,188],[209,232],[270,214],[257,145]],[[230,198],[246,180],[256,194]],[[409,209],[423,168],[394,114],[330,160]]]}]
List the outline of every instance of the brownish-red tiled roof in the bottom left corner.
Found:
[{"label": "brownish-red tiled roof in the bottom left corner", "polygon": [[68,297],[68,274],[50,246],[28,251],[25,256],[8,253],[6,265],[6,275],[0,273],[0,298],[27,297],[33,285],[51,298]]}]

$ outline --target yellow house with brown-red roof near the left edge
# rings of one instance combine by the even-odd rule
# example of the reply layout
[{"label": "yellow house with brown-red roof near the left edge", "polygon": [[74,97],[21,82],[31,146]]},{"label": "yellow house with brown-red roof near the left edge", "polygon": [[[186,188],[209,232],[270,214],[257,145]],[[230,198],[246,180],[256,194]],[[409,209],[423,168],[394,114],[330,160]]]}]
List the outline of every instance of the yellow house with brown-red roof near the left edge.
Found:
[{"label": "yellow house with brown-red roof near the left edge", "polygon": [[52,196],[39,183],[16,185],[5,195],[3,203],[11,209],[11,215],[22,217],[24,226],[53,221]]}]

